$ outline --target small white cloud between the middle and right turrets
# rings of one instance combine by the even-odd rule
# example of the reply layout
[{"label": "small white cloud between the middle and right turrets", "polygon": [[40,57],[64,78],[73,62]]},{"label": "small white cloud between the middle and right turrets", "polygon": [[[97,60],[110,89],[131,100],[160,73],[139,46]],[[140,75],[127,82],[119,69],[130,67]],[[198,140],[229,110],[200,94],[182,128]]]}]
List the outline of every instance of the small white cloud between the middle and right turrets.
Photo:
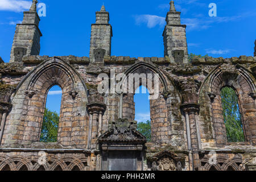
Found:
[{"label": "small white cloud between the middle and right turrets", "polygon": [[157,15],[137,15],[135,16],[137,24],[146,23],[148,28],[154,28],[155,26],[164,26],[166,18]]}]

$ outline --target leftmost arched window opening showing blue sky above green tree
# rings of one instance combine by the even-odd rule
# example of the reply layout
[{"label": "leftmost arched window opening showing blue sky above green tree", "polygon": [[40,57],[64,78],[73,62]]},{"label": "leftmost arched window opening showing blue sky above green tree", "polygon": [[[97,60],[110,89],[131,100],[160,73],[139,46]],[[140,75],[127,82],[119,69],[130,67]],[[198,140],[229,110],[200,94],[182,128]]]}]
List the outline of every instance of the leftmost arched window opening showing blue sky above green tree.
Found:
[{"label": "leftmost arched window opening showing blue sky above green tree", "polygon": [[60,120],[61,88],[57,85],[49,90],[44,109],[40,142],[57,142]]}]

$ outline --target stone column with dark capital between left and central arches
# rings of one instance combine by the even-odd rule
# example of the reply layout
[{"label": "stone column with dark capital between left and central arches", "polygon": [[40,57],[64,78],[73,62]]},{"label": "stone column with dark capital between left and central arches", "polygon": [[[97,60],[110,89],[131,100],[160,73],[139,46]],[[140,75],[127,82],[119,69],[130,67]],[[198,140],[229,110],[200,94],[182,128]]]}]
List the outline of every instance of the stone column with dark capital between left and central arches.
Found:
[{"label": "stone column with dark capital between left and central arches", "polygon": [[88,148],[91,150],[97,149],[97,137],[102,131],[102,114],[106,110],[105,104],[100,104],[97,102],[90,103],[87,105],[90,118],[89,126],[89,137]]}]

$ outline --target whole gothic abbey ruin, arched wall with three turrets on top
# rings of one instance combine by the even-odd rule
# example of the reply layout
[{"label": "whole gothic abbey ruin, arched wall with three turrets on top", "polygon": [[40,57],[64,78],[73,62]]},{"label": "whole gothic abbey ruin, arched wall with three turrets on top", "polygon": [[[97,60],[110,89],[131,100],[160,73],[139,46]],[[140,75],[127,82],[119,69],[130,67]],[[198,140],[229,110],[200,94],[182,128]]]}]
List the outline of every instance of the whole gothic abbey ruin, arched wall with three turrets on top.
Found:
[{"label": "whole gothic abbey ruin, arched wall with three turrets on top", "polygon": [[[89,57],[39,56],[36,3],[16,25],[10,63],[0,59],[0,171],[256,169],[256,51],[254,57],[190,62],[186,26],[171,1],[164,57],[112,56],[112,26],[104,6],[92,24]],[[109,75],[110,68],[116,74],[159,75],[159,97],[150,101],[152,142],[137,131],[134,94],[97,92],[102,81],[97,76]],[[56,143],[42,143],[53,85],[63,92],[59,133]],[[237,93],[245,142],[227,140],[224,86]]]}]

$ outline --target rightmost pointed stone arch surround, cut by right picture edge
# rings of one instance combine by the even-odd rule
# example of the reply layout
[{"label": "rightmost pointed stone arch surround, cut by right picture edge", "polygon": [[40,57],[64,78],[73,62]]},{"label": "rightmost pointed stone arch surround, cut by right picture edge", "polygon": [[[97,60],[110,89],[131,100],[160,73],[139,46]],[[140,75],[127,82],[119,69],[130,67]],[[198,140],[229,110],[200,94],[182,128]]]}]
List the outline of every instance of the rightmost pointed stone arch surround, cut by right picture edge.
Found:
[{"label": "rightmost pointed stone arch surround, cut by right picture edge", "polygon": [[240,65],[237,67],[216,67],[205,79],[199,90],[201,138],[205,141],[215,139],[216,146],[227,144],[226,129],[222,113],[221,89],[225,86],[235,90],[242,115],[245,139],[256,144],[256,106],[255,80]]}]

